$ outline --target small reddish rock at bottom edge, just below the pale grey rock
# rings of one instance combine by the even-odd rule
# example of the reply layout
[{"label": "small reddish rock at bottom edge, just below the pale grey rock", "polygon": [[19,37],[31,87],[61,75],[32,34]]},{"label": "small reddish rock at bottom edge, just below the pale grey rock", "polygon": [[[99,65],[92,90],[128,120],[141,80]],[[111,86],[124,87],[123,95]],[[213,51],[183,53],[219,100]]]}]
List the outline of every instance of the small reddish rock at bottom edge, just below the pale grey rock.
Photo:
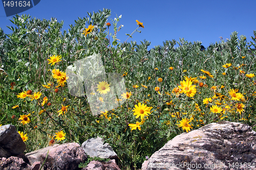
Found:
[{"label": "small reddish rock at bottom edge, just below the pale grey rock", "polygon": [[99,162],[99,161],[91,161],[87,167],[82,168],[82,170],[121,170],[117,164],[115,159],[112,159],[108,162]]}]

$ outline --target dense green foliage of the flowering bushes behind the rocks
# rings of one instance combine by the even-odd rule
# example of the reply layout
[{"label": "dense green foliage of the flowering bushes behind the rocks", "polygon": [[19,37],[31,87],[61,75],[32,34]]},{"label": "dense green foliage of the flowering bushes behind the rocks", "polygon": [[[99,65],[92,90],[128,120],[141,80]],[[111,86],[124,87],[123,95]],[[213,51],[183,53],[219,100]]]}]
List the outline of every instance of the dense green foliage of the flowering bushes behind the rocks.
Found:
[{"label": "dense green foliage of the flowering bushes behind the rocks", "polygon": [[[193,129],[228,120],[246,123],[255,130],[256,82],[255,77],[246,76],[256,70],[255,31],[251,37],[253,42],[247,42],[245,36],[239,39],[237,32],[233,32],[227,41],[210,44],[206,49],[201,47],[201,42],[192,43],[180,38],[179,41],[165,41],[147,51],[150,45],[147,40],[140,44],[127,40],[120,43],[121,25],[118,22],[121,17],[112,20],[112,26],[107,27],[110,14],[108,9],[88,13],[89,17],[78,18],[75,25],[70,25],[68,32],[64,30],[63,33],[63,21],[58,22],[55,18],[40,20],[29,15],[13,17],[11,21],[15,27],[9,27],[12,30],[9,35],[0,29],[0,62],[4,70],[0,73],[0,125],[12,124],[18,131],[28,134],[26,152],[47,147],[52,139],[56,143],[81,144],[100,136],[117,153],[121,169],[138,169],[146,156],[151,156],[168,140],[184,132],[177,126],[183,118],[189,119]],[[94,29],[85,36],[83,31],[89,25]],[[140,31],[143,33],[138,27],[132,34],[127,34],[127,38]],[[52,76],[54,69],[65,72],[69,65],[92,54],[101,56],[106,72],[122,74],[126,90],[132,94],[119,107],[96,116],[91,114],[86,97],[72,96],[67,83],[59,86]],[[48,59],[53,55],[61,56],[61,61],[51,66]],[[225,68],[223,65],[228,63],[231,66]],[[214,78],[201,70],[209,71]],[[174,88],[181,86],[183,80],[194,81],[197,90],[194,96],[189,97],[181,91],[175,93]],[[12,89],[11,83],[15,83]],[[160,90],[155,91],[155,87]],[[238,89],[237,93],[244,97],[239,101],[232,100],[230,89]],[[42,95],[38,100],[28,96],[17,98],[19,93],[27,90]],[[44,97],[48,101],[42,105]],[[212,101],[206,104],[206,98]],[[121,100],[124,101],[124,97]],[[144,122],[134,116],[133,109],[138,103],[144,103],[151,110]],[[244,105],[244,111],[238,111],[239,104]],[[16,105],[17,108],[12,108]],[[216,105],[224,111],[212,112],[211,108]],[[67,111],[58,116],[63,107],[67,107]],[[20,115],[29,113],[31,122],[23,126]],[[131,130],[129,124],[136,122],[141,123],[141,130]],[[66,134],[64,140],[54,138],[59,131]]]}]

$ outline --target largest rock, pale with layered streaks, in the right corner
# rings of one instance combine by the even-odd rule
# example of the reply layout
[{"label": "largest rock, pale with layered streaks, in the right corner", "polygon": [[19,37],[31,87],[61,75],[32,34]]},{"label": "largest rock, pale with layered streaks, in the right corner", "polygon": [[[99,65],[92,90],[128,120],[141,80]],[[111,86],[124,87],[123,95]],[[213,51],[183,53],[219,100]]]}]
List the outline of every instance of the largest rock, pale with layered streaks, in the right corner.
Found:
[{"label": "largest rock, pale with layered streaks, in the right corner", "polygon": [[143,169],[256,169],[255,141],[249,125],[212,123],[168,141]]}]

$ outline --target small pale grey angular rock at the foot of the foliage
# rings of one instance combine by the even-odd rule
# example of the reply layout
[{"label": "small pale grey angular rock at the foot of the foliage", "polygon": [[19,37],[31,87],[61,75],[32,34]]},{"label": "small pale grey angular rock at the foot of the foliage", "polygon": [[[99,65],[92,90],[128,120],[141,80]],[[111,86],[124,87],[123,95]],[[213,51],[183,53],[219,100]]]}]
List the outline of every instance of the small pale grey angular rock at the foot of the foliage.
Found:
[{"label": "small pale grey angular rock at the foot of the foliage", "polygon": [[90,157],[100,157],[117,159],[117,154],[113,151],[109,143],[103,144],[103,139],[100,137],[95,137],[88,139],[81,145],[84,152],[86,152]]}]

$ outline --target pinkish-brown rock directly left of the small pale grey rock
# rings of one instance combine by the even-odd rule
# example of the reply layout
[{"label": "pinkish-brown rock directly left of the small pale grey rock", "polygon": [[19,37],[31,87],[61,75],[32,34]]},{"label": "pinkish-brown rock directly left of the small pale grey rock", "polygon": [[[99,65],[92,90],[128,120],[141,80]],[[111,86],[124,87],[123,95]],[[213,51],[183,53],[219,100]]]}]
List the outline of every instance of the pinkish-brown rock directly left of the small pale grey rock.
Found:
[{"label": "pinkish-brown rock directly left of the small pale grey rock", "polygon": [[[47,152],[49,154],[47,156]],[[78,143],[54,144],[26,154],[30,164],[39,161],[41,164],[45,161],[44,170],[73,170],[79,169],[80,162],[87,159],[86,154]]]}]

